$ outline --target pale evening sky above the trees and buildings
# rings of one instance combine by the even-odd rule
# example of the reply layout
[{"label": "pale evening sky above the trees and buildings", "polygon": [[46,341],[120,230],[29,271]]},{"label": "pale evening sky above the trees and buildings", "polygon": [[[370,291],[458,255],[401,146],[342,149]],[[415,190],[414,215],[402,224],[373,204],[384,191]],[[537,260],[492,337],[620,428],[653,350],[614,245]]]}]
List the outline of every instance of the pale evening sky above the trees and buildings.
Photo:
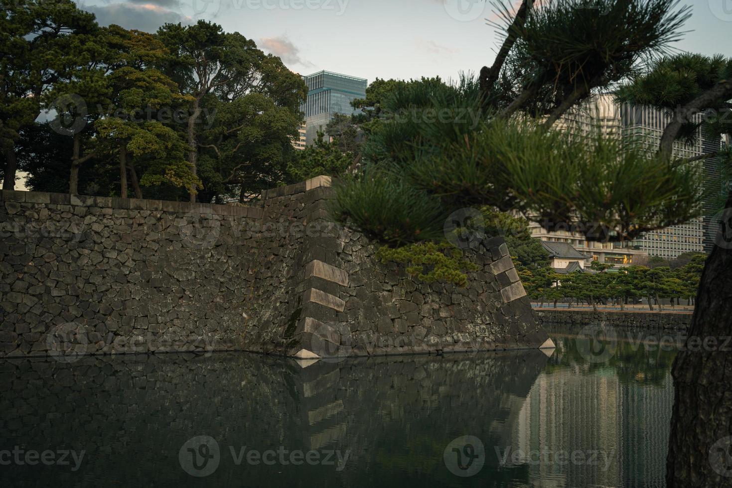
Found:
[{"label": "pale evening sky above the trees and buildings", "polygon": [[[514,4],[519,0],[512,1]],[[499,20],[485,0],[78,0],[101,25],[154,32],[206,19],[255,40],[303,75],[328,70],[367,78],[455,80],[496,55]],[[673,48],[732,56],[732,0],[692,7]]]}]

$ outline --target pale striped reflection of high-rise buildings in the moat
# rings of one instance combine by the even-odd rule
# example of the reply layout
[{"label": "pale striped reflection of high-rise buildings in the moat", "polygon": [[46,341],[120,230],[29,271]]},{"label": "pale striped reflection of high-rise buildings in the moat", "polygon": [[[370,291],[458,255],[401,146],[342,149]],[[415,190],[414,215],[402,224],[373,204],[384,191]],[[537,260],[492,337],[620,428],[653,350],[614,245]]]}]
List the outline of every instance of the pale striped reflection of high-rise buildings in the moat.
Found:
[{"label": "pale striped reflection of high-rise buildings in the moat", "polygon": [[[592,347],[591,339],[576,341],[586,341],[576,350]],[[562,345],[557,346],[561,351]],[[651,357],[643,361],[654,365],[649,367],[654,378],[635,370],[624,374],[633,351],[620,338],[613,353],[623,366],[554,366],[531,386],[507,444],[512,451],[535,453],[534,462],[524,462],[524,467],[530,478],[542,480],[542,487],[664,486],[673,379],[668,366]],[[662,354],[668,361],[671,352]],[[556,462],[558,453],[584,450],[587,462]],[[594,461],[591,453],[597,453]]]}]

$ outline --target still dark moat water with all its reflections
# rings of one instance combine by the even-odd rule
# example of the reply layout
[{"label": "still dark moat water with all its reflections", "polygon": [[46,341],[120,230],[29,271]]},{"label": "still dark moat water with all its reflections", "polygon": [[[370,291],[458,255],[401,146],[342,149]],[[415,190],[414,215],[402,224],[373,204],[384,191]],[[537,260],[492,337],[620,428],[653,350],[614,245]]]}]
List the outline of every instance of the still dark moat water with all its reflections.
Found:
[{"label": "still dark moat water with all its reflections", "polygon": [[676,348],[660,335],[314,364],[0,361],[0,486],[662,487]]}]

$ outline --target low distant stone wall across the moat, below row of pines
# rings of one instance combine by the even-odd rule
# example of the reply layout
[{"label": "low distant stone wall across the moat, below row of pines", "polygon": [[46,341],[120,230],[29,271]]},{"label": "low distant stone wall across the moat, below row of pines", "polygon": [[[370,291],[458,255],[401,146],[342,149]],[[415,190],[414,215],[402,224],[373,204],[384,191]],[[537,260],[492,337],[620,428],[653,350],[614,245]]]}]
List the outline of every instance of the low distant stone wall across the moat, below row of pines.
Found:
[{"label": "low distant stone wall across the moat, below row of pines", "polygon": [[622,312],[611,310],[534,309],[542,325],[586,326],[602,323],[613,327],[638,329],[673,329],[686,331],[691,325],[691,313]]}]

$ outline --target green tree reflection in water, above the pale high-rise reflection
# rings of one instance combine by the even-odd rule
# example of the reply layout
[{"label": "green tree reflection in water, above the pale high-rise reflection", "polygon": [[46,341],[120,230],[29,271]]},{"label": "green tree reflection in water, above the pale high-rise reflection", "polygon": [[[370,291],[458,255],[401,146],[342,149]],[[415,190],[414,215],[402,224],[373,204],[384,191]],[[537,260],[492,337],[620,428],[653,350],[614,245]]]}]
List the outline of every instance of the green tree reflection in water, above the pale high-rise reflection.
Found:
[{"label": "green tree reflection in water, above the pale high-rise reflection", "polygon": [[[544,372],[552,374],[572,369],[583,375],[595,375],[603,370],[613,370],[623,384],[665,387],[665,379],[671,373],[671,364],[679,345],[668,340],[659,343],[659,340],[672,334],[619,329],[616,329],[616,333],[616,341],[600,341],[602,347],[612,351],[606,361],[591,361],[588,358],[586,351],[590,350],[589,345],[594,339],[560,331],[550,333],[556,344],[556,353],[550,357]],[[673,337],[676,338],[675,335]],[[602,350],[599,345],[594,346]]]}]

